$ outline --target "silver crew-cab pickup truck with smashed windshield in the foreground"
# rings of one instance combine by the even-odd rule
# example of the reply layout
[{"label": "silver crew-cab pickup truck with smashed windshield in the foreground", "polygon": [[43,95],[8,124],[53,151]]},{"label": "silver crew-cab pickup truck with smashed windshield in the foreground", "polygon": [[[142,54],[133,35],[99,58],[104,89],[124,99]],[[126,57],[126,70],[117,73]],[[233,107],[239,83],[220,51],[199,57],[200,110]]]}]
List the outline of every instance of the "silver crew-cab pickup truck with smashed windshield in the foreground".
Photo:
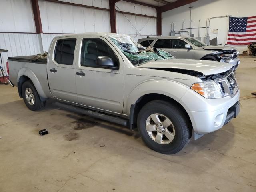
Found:
[{"label": "silver crew-cab pickup truck with smashed windshield in the foreground", "polygon": [[232,66],[215,61],[173,59],[145,49],[127,35],[86,33],[52,40],[46,60],[9,57],[10,84],[30,110],[46,100],[138,128],[146,145],[174,154],[216,131],[239,113]]}]

